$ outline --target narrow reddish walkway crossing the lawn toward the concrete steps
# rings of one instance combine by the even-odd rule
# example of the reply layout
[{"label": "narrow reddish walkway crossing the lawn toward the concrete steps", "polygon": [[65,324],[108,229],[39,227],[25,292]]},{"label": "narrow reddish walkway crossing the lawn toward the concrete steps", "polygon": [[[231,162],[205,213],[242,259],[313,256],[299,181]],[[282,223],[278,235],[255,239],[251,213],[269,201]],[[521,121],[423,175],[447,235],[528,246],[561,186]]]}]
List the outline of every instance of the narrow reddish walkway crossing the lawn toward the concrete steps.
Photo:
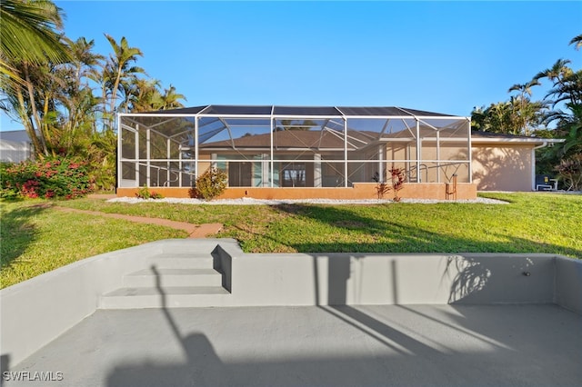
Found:
[{"label": "narrow reddish walkway crossing the lawn toward the concrete steps", "polygon": [[146,216],[132,216],[124,215],[121,213],[100,213],[97,211],[88,210],[77,210],[75,208],[67,207],[54,207],[56,210],[65,211],[68,213],[86,213],[93,216],[104,216],[106,218],[122,219],[129,222],[135,223],[147,223],[156,224],[165,227],[175,228],[177,230],[184,230],[188,233],[188,238],[206,238],[208,235],[214,235],[222,230],[222,224],[220,223],[203,223],[203,224],[192,224],[186,222],[176,222],[167,219],[159,218],[148,218]]}]

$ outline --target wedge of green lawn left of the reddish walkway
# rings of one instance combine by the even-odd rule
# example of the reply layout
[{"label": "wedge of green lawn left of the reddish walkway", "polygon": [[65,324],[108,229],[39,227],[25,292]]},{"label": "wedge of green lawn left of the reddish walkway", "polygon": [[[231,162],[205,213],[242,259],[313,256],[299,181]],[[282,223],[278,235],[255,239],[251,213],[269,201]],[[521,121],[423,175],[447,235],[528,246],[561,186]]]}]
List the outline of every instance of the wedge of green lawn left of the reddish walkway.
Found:
[{"label": "wedge of green lawn left of the reddish walkway", "polygon": [[166,227],[64,213],[44,201],[0,202],[0,210],[2,288],[96,254],[186,236]]}]

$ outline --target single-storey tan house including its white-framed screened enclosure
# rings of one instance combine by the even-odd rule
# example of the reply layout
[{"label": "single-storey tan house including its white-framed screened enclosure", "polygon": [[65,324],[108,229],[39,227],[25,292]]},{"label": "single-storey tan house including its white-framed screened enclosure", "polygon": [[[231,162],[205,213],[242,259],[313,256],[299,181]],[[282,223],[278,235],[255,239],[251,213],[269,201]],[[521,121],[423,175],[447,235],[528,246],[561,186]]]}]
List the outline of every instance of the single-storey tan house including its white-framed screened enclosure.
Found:
[{"label": "single-storey tan house including its white-framed screened enclosure", "polygon": [[542,145],[401,107],[206,105],[118,114],[118,128],[121,196],[146,185],[187,197],[214,166],[228,175],[224,198],[376,198],[373,177],[389,183],[398,168],[402,197],[471,199],[480,189],[531,190]]}]

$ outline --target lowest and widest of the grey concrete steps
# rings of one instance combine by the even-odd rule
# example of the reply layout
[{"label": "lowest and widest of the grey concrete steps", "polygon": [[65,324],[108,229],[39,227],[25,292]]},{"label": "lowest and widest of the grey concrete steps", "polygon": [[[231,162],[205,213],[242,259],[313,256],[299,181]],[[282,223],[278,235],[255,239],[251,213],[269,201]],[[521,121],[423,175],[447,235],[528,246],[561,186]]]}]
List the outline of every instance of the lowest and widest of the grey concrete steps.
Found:
[{"label": "lowest and widest of the grey concrete steps", "polygon": [[230,293],[222,286],[127,287],[101,297],[100,309],[194,308],[216,306]]}]

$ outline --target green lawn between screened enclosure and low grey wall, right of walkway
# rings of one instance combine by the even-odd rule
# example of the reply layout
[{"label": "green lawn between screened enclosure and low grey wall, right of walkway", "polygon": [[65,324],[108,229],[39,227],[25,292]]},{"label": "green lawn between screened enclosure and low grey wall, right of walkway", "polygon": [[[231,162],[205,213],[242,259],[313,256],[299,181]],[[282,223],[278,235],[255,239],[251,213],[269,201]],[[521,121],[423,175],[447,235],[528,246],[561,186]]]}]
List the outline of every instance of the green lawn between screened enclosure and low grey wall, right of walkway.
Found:
[{"label": "green lawn between screened enclosure and low grey wall, right of walkway", "polygon": [[560,253],[582,258],[582,196],[488,193],[508,204],[64,205],[107,213],[223,223],[247,253]]}]

